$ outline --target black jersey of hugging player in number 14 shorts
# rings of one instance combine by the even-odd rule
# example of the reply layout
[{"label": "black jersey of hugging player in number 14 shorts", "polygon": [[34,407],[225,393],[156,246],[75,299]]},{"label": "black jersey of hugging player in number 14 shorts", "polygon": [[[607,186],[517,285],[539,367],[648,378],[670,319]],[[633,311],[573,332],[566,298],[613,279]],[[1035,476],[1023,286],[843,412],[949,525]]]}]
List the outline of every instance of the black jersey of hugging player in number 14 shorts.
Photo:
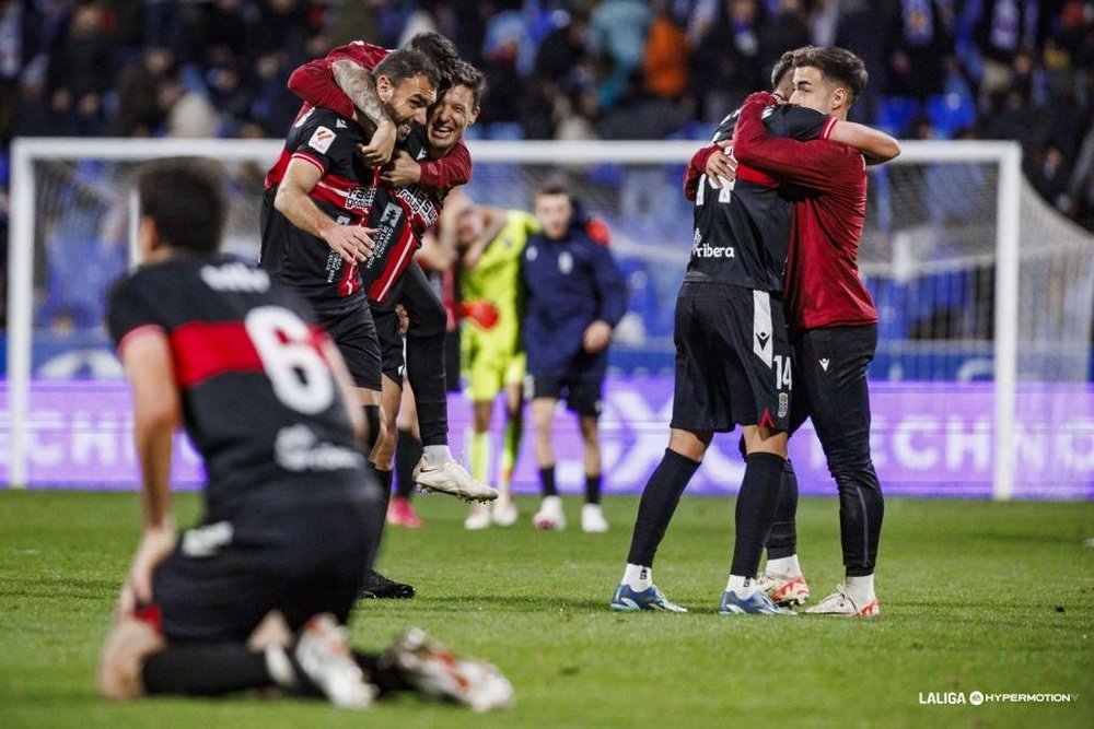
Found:
[{"label": "black jersey of hugging player in number 14 shorts", "polygon": [[[723,119],[713,142],[732,139],[735,121],[735,113]],[[796,106],[772,108],[765,119],[771,134],[800,140],[819,138],[828,121]],[[685,195],[695,191],[695,226],[684,280],[781,292],[792,202],[780,192],[779,183],[746,165],[738,165],[736,178],[722,180],[718,188],[694,165],[686,177]]]}]

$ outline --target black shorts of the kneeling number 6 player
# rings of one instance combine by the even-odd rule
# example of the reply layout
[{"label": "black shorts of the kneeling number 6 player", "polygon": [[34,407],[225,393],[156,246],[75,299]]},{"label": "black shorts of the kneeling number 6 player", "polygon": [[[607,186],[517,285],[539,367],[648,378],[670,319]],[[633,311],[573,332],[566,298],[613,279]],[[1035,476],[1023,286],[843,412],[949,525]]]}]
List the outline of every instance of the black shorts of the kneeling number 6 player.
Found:
[{"label": "black shorts of the kneeling number 6 player", "polygon": [[321,612],[345,623],[372,563],[370,518],[341,502],[187,530],[152,579],[164,636],[243,642],[271,610],[294,631]]}]

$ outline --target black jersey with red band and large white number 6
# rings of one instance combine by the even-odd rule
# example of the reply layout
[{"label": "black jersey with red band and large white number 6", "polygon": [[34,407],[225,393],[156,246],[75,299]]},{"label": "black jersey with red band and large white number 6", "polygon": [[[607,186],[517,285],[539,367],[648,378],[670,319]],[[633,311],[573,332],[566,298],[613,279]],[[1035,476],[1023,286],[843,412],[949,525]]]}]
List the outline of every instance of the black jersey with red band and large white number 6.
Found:
[{"label": "black jersey with red band and large white number 6", "polygon": [[352,498],[364,459],[310,307],[260,269],[178,257],[109,294],[118,352],[149,330],[171,346],[186,431],[205,461],[210,520],[243,505]]}]

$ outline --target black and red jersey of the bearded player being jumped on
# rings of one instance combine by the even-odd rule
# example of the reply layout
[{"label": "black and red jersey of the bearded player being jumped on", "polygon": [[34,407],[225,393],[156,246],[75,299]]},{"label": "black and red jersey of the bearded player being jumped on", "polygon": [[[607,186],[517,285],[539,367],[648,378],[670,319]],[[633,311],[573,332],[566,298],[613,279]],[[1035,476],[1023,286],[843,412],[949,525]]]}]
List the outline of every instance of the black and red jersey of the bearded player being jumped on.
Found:
[{"label": "black and red jersey of the bearded player being jumped on", "polygon": [[361,128],[351,119],[328,109],[311,109],[293,124],[281,156],[266,174],[259,264],[324,311],[365,305],[357,266],[289,222],[274,208],[274,198],[289,162],[301,160],[323,173],[311,192],[319,210],[339,225],[364,225],[379,175],[357,160],[356,148],[363,141]]}]

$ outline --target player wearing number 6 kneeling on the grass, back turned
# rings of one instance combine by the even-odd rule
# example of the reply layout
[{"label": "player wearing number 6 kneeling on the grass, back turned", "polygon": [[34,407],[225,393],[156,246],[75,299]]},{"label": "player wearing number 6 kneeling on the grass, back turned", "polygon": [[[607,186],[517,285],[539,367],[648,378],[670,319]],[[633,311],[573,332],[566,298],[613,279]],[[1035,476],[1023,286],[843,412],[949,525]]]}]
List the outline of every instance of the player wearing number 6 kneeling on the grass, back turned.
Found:
[{"label": "player wearing number 6 kneeling on the grass, back turned", "polygon": [[[132,385],[144,527],[98,667],[101,693],[214,696],[280,687],[362,708],[412,690],[476,709],[508,705],[489,663],[420,631],[381,655],[345,625],[375,540],[380,489],[337,348],[302,299],[217,250],[226,203],[214,168],[154,163],[138,179],[144,266],[110,293]],[[200,526],[176,539],[168,472],[184,424],[208,473]]]}]

